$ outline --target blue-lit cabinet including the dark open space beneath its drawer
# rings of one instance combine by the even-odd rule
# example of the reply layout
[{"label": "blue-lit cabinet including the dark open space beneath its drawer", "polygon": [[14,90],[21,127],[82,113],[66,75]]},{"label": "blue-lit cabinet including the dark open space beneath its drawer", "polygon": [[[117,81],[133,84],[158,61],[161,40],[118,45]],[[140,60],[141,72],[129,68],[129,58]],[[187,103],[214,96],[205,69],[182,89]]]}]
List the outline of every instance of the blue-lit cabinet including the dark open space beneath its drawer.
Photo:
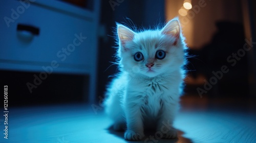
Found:
[{"label": "blue-lit cabinet including the dark open space beneath its drawer", "polygon": [[94,102],[99,1],[2,1],[1,86],[10,105]]}]

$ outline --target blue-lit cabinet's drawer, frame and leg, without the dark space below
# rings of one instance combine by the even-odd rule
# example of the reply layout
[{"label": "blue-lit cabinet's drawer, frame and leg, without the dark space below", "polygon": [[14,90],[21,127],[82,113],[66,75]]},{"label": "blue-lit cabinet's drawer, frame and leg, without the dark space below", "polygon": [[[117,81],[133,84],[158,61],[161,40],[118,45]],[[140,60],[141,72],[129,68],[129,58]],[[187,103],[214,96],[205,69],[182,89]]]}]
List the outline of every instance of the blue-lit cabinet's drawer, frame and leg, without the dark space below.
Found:
[{"label": "blue-lit cabinet's drawer, frame and leg, without the dark space below", "polygon": [[93,102],[99,1],[93,2],[83,9],[61,1],[1,1],[0,69],[89,75]]}]

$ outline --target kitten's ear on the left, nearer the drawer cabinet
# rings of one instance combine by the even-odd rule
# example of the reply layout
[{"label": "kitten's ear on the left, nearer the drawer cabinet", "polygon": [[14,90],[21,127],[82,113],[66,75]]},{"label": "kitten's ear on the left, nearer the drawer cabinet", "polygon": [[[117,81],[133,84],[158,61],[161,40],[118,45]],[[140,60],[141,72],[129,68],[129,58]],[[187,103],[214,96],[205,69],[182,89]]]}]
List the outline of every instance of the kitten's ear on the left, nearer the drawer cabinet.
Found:
[{"label": "kitten's ear on the left, nearer the drawer cabinet", "polygon": [[133,40],[135,33],[123,25],[117,25],[117,35],[119,38],[119,43],[122,44],[124,50],[127,50],[127,46],[125,46],[125,43],[127,41]]}]

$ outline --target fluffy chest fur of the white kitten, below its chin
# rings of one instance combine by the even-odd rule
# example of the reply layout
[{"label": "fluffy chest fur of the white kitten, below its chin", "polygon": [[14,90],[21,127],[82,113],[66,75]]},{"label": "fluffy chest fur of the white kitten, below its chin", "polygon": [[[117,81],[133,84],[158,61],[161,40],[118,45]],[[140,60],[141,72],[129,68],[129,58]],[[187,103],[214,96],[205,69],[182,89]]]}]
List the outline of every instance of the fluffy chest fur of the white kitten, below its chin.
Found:
[{"label": "fluffy chest fur of the white kitten, below its chin", "polygon": [[[172,84],[166,77],[138,79],[132,83],[133,89],[141,96],[139,106],[143,116],[157,117],[162,105],[170,96]],[[135,91],[136,92],[136,91]]]}]

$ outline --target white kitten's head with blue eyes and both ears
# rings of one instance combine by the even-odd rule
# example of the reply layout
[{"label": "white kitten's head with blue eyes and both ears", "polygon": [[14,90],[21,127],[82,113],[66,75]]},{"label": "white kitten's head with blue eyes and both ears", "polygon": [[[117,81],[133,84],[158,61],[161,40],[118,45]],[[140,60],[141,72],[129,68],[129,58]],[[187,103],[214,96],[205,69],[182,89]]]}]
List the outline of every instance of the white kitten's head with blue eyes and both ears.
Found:
[{"label": "white kitten's head with blue eyes and both ears", "polygon": [[186,45],[178,18],[166,23],[162,29],[134,32],[117,25],[118,56],[121,70],[130,74],[155,77],[180,70],[184,64]]}]

